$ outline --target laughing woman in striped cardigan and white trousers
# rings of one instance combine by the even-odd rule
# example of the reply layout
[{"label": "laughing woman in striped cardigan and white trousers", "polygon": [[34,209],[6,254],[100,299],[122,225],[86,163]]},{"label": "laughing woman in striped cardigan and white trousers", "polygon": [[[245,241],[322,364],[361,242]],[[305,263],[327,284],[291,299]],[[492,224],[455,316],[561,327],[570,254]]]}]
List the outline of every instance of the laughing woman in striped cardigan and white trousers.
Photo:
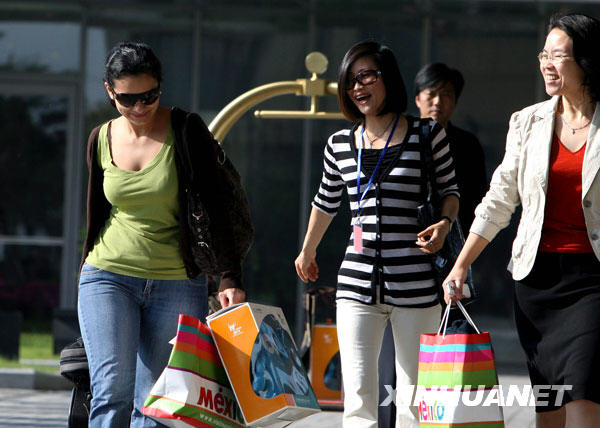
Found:
[{"label": "laughing woman in striped cardigan and white trousers", "polygon": [[[406,89],[389,48],[373,41],[350,48],[340,65],[338,100],[354,125],[327,142],[323,179],[295,266],[302,281],[317,280],[317,246],[346,188],[352,233],[336,293],[344,427],[376,427],[377,360],[388,319],[397,388],[416,384],[419,336],[438,326],[440,306],[429,256],[441,249],[456,218],[458,187],[444,129],[431,119],[404,114]],[[422,200],[424,126],[443,200],[439,222],[422,230],[417,206]],[[418,427],[416,407],[396,404],[396,426]]]}]

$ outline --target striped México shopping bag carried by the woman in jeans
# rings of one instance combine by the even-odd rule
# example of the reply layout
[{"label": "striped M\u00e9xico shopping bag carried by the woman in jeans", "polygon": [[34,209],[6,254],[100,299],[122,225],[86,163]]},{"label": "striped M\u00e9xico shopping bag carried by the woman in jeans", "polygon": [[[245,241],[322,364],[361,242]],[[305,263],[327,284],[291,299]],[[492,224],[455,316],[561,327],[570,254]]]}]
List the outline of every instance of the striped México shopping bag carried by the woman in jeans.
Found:
[{"label": "striped M\u00e9xico shopping bag carried by the woman in jeans", "polygon": [[179,315],[177,337],[142,413],[168,427],[243,427],[208,326]]}]

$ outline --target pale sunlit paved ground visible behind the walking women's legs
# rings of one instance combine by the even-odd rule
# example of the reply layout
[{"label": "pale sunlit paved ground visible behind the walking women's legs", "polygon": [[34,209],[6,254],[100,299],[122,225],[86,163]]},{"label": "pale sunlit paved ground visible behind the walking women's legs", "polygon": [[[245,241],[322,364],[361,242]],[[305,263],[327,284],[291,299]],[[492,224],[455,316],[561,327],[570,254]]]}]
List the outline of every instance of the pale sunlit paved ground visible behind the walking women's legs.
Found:
[{"label": "pale sunlit paved ground visible behind the walking women's legs", "polygon": [[[501,376],[503,387],[529,383],[525,376]],[[69,391],[38,391],[0,388],[0,428],[64,428],[71,393]],[[532,407],[504,408],[506,428],[534,426]],[[342,423],[341,412],[321,412],[290,425],[290,428],[337,428]]]}]

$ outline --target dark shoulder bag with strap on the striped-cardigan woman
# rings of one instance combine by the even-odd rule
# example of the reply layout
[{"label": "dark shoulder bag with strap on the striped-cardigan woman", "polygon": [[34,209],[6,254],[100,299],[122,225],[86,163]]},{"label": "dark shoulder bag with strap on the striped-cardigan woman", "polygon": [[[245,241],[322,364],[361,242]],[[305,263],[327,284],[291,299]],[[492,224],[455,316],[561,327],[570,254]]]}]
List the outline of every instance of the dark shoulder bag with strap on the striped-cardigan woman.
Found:
[{"label": "dark shoulder bag with strap on the striped-cardigan woman", "polygon": [[[421,127],[421,159],[423,160],[423,182],[422,195],[423,203],[417,208],[417,221],[419,225],[426,228],[433,223],[437,223],[440,218],[441,200],[437,192],[437,183],[435,181],[435,166],[433,164],[433,153],[431,150],[431,141],[429,138],[429,124]],[[446,236],[444,245],[437,253],[431,256],[431,265],[435,275],[435,280],[438,285],[438,295],[443,297],[442,281],[446,279],[450,270],[454,266],[454,262],[460,253],[465,237],[462,233],[462,228],[458,217],[454,223],[450,225],[450,232]],[[475,287],[473,285],[473,277],[471,268],[467,272],[465,284],[469,287],[471,297],[463,300],[463,304],[470,303],[475,297]]]}]

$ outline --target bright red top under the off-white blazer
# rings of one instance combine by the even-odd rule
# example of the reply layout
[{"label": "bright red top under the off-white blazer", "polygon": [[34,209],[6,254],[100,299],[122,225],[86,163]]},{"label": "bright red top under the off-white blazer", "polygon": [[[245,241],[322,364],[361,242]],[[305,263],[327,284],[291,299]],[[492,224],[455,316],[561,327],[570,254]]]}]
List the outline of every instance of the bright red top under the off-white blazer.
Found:
[{"label": "bright red top under the off-white blazer", "polygon": [[581,206],[581,168],[585,146],[570,152],[554,135],[540,251],[591,253]]}]

